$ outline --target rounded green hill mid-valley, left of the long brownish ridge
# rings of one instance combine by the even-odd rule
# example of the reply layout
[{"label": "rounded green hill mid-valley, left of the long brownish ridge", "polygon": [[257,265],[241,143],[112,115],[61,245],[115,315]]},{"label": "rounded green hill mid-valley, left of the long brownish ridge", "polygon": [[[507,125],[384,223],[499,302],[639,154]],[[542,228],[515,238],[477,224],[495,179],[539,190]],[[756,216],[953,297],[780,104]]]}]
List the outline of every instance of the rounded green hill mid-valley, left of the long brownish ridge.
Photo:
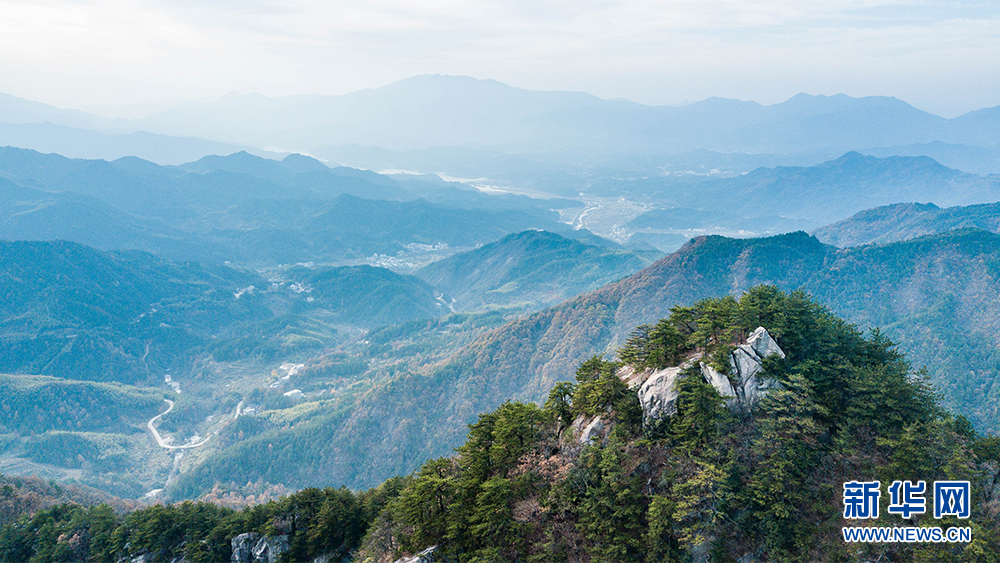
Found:
[{"label": "rounded green hill mid-valley, left of the long brownish ridge", "polygon": [[454,298],[457,310],[554,305],[632,274],[650,260],[546,231],[508,235],[434,262],[416,275]]}]

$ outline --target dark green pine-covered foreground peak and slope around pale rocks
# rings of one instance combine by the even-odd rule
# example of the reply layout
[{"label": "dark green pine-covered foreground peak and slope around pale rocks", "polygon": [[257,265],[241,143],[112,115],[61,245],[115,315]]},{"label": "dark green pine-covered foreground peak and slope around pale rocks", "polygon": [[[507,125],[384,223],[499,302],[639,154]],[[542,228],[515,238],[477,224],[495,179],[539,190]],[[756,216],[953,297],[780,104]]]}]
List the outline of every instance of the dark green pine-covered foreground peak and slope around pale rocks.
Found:
[{"label": "dark green pine-covered foreground peak and slope around pale rocks", "polygon": [[[757,372],[771,382],[759,403],[733,410],[684,366],[726,357],[755,325],[783,351]],[[635,370],[685,362],[672,414],[650,418],[622,364],[593,357],[543,406],[504,402],[455,454],[367,491],[305,489],[240,512],[62,505],[0,527],[0,558],[201,563],[250,561],[252,549],[292,561],[988,563],[1000,552],[1000,442],[941,409],[893,343],[805,294],[756,286],[698,300],[618,355]],[[581,434],[591,420],[603,424]],[[971,518],[883,511],[875,525],[968,526],[972,541],[845,543],[842,484],[900,478],[969,480]]]}]

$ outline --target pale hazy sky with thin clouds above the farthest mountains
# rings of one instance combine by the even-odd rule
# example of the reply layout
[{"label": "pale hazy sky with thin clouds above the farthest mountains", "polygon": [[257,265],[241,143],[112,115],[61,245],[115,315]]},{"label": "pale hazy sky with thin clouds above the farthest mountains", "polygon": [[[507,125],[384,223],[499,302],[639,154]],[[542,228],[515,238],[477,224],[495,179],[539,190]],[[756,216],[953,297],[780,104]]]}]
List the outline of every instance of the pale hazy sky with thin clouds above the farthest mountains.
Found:
[{"label": "pale hazy sky with thin clouds above the farthest mountains", "polygon": [[416,74],[652,104],[1000,105],[1000,2],[0,0],[0,92],[63,107],[341,94]]}]

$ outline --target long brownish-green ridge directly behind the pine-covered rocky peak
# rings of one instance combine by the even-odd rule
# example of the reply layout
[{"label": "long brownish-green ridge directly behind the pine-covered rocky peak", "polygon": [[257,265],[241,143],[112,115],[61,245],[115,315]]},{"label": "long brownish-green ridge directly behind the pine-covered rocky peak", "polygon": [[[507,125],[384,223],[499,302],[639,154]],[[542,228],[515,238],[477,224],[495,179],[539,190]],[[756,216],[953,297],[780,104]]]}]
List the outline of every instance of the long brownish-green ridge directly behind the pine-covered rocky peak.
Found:
[{"label": "long brownish-green ridge directly behind the pine-covered rocky peak", "polygon": [[[477,413],[505,400],[543,402],[552,385],[571,379],[582,361],[613,354],[637,326],[655,323],[674,307],[739,295],[758,284],[802,289],[862,330],[880,329],[899,342],[914,370],[927,370],[948,408],[995,431],[996,264],[1000,237],[979,230],[844,250],[801,232],[701,237],[619,282],[480,331],[450,354],[424,357],[419,367],[381,367],[385,348],[375,342],[352,348],[380,367],[349,378],[350,394],[287,430],[269,425],[252,435],[241,427],[243,438],[229,434],[227,448],[185,473],[175,494],[279,475],[290,476],[286,484],[315,484],[314,473],[296,469],[306,467],[355,487],[405,473],[416,460],[447,455]],[[407,346],[419,349],[431,341],[422,339],[441,338],[461,322],[412,326]],[[396,331],[393,338],[404,334]],[[265,453],[271,451],[281,453]],[[296,465],[275,465],[268,461],[273,455]]]}]

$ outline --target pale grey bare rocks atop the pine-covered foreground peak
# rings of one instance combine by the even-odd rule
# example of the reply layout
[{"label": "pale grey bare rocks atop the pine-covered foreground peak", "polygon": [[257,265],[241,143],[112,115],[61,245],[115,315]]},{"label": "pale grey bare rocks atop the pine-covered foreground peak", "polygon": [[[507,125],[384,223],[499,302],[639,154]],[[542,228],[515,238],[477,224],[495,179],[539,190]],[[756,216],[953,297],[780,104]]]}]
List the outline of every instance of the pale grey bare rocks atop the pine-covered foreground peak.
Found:
[{"label": "pale grey bare rocks atop the pine-covered foreground peak", "polygon": [[[730,410],[749,412],[768,391],[778,385],[777,382],[764,377],[764,358],[772,355],[785,357],[785,353],[767,330],[764,327],[757,327],[744,344],[733,350],[729,358],[728,376],[705,362],[699,362],[699,368],[705,381],[726,399],[726,405]],[[677,413],[677,381],[684,377],[684,371],[693,365],[694,361],[700,359],[696,357],[680,366],[652,372],[647,370],[637,373],[632,368],[619,370],[619,377],[630,386],[637,385],[643,377],[646,377],[638,393],[643,420],[647,424]]]}]

